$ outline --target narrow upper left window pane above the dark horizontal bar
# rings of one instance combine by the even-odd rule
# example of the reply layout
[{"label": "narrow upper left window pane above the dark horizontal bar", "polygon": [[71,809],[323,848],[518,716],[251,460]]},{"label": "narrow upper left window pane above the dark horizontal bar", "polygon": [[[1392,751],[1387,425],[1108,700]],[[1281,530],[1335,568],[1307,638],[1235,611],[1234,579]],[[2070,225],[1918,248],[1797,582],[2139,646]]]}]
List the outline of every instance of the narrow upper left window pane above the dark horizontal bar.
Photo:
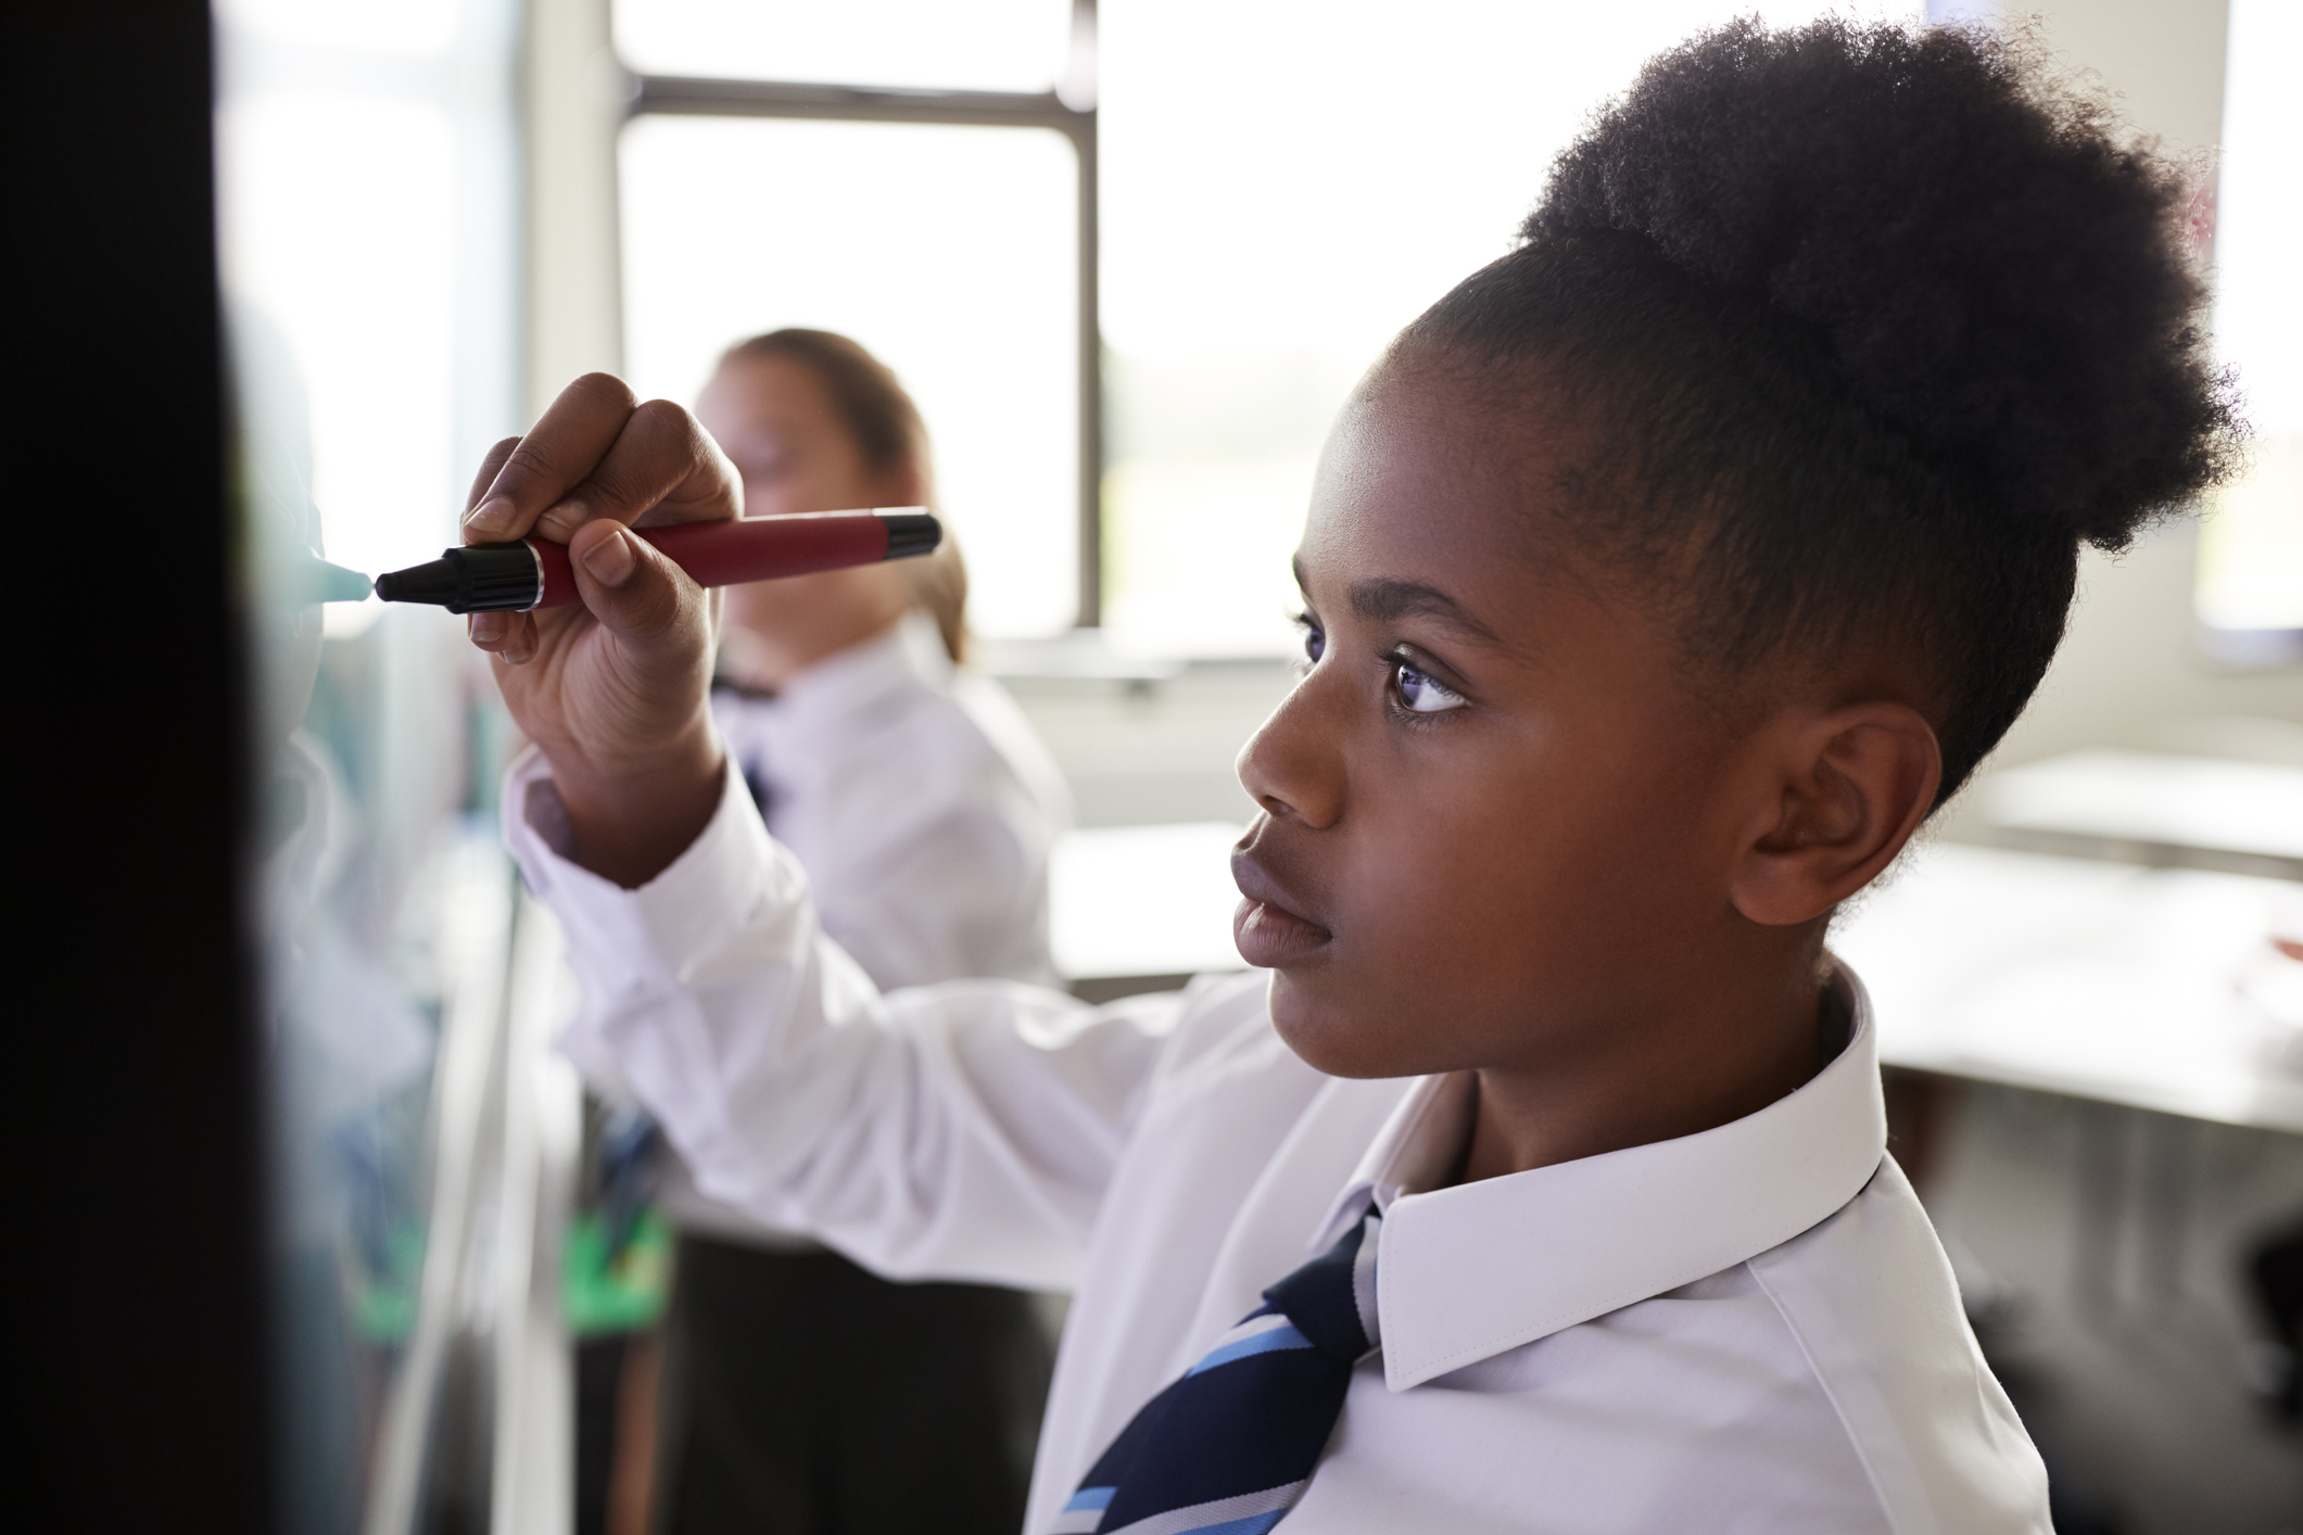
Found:
[{"label": "narrow upper left window pane above the dark horizontal bar", "polygon": [[942,90],[1050,90],[1071,0],[617,0],[640,74]]}]

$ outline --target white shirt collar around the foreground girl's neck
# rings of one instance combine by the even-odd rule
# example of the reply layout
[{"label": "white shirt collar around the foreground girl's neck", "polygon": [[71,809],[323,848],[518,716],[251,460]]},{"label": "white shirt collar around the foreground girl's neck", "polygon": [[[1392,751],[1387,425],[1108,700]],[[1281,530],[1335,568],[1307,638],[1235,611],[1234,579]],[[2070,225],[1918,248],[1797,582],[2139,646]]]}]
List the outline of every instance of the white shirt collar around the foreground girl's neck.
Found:
[{"label": "white shirt collar around the foreground girl's neck", "polygon": [[1391,1390],[1531,1344],[1778,1247],[1854,1199],[1886,1155],[1870,996],[1838,960],[1849,1040],[1806,1086],[1700,1135],[1432,1187],[1469,1132],[1472,1077],[1393,1109],[1313,1247],[1384,1213],[1377,1309]]}]

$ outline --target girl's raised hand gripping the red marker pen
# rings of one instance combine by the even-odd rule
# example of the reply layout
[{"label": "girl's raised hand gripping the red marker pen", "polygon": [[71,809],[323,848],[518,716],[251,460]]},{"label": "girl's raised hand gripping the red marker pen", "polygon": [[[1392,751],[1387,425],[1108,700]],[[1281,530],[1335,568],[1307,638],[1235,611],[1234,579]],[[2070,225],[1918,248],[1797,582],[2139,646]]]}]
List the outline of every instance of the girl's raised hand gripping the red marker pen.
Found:
[{"label": "girl's raised hand gripping the red marker pen", "polygon": [[553,764],[571,856],[622,886],[696,840],[723,773],[707,707],[719,598],[624,529],[735,518],[742,504],[735,467],[689,412],[640,405],[606,373],[562,389],[472,483],[465,543],[569,545],[583,605],[477,612],[472,644]]}]

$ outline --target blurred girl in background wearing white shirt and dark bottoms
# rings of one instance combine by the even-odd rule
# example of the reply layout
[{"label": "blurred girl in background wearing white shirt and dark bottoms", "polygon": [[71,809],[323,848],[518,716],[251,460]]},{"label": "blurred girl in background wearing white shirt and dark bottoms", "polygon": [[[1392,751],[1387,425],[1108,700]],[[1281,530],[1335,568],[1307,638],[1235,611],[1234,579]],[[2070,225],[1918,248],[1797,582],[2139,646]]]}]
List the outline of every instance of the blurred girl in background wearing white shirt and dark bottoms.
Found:
[{"label": "blurred girl in background wearing white shirt and dark bottoms", "polygon": [[[730,348],[696,414],[744,516],[933,499],[919,410],[845,336]],[[1069,799],[1006,693],[958,665],[965,598],[949,541],[725,598],[719,730],[824,930],[882,990],[1055,980],[1048,845]],[[626,1376],[629,1406],[656,1395],[656,1530],[1020,1528],[1050,1365],[1029,1296],[880,1280],[707,1199],[677,1158],[661,1206],[679,1231],[661,1385]],[[633,1466],[617,1480],[615,1503],[645,1507]]]}]

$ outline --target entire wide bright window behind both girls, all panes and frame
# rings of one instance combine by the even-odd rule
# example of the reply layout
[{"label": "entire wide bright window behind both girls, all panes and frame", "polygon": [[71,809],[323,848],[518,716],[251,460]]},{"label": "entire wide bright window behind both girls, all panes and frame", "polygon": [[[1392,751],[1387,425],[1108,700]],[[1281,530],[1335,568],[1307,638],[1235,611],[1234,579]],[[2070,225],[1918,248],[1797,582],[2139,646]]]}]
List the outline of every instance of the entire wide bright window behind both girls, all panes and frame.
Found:
[{"label": "entire wide bright window behind both girls, all panes and frame", "polygon": [[[1313,458],[1359,371],[1508,246],[1594,81],[1750,9],[620,0],[629,366],[693,398],[751,331],[852,331],[928,417],[979,631],[1078,617],[1135,651],[1280,654]],[[1039,150],[1004,143],[1032,124],[1055,129]],[[1069,214],[1032,163],[1064,140]],[[983,301],[940,301],[940,260]]]}]

